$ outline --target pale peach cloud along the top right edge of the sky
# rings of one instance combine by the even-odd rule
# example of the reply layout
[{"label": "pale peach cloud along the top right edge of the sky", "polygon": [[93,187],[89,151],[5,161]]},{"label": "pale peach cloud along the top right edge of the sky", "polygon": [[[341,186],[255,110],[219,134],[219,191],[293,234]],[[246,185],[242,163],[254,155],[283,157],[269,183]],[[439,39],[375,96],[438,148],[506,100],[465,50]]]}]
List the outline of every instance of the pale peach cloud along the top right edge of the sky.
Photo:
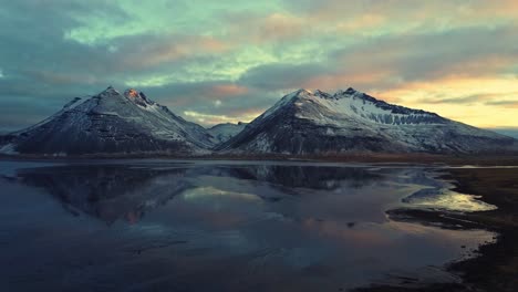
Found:
[{"label": "pale peach cloud along the top right edge of the sky", "polygon": [[333,23],[333,32],[384,35],[438,32],[452,28],[495,27],[516,21],[514,0],[341,1],[284,0],[290,11],[312,23]]}]

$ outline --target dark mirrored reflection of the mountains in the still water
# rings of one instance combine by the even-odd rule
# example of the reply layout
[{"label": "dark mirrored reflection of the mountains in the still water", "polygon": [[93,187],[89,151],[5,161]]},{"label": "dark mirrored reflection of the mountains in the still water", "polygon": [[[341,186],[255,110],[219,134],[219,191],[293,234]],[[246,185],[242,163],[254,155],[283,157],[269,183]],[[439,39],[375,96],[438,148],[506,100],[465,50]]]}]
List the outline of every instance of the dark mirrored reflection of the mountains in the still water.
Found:
[{"label": "dark mirrored reflection of the mountains in the still water", "polygon": [[81,211],[113,223],[121,218],[135,222],[146,210],[166,204],[187,189],[190,189],[189,194],[203,190],[208,194],[221,192],[214,186],[199,189],[199,186],[206,184],[237,190],[246,186],[228,182],[242,180],[253,187],[268,182],[270,190],[263,186],[262,191],[253,196],[277,200],[281,198],[278,191],[297,195],[301,190],[293,188],[335,191],[341,188],[354,189],[383,177],[362,168],[278,165],[149,168],[79,165],[22,169],[18,173],[18,178],[22,184],[45,189],[73,215]]}]

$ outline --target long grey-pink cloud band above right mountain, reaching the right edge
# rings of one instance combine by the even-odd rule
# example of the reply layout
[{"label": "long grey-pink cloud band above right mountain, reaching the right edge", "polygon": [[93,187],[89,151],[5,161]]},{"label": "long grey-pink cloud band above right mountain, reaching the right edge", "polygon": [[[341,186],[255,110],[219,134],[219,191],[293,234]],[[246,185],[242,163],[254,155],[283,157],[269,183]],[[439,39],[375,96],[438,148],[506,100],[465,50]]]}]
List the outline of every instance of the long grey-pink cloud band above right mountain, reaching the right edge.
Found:
[{"label": "long grey-pink cloud band above right mountain, reaching the right edge", "polygon": [[260,65],[240,82],[269,90],[353,85],[377,91],[445,76],[493,76],[518,61],[517,43],[518,32],[508,28],[383,36],[331,51],[319,63]]}]

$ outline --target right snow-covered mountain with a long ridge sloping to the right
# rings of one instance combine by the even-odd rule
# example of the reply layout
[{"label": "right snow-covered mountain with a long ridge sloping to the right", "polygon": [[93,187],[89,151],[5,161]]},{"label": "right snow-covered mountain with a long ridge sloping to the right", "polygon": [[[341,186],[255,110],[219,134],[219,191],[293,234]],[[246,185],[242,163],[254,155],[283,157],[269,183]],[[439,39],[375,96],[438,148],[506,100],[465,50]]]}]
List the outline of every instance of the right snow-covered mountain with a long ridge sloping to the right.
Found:
[{"label": "right snow-covered mountain with a long ridge sloping to the right", "polygon": [[516,149],[514,138],[379,101],[353,88],[299,90],[282,97],[234,138],[234,153],[481,153]]}]

